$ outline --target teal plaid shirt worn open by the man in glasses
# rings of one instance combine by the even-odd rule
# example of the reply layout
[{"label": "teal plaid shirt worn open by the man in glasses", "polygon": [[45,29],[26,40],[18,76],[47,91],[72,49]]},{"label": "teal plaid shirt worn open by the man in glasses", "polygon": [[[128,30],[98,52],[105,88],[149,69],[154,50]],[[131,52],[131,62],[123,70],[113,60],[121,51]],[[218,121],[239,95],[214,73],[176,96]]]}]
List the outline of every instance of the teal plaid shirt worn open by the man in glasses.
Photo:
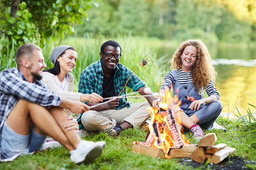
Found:
[{"label": "teal plaid shirt worn open by the man in glasses", "polygon": [[[118,63],[117,67],[115,67],[114,72],[115,95],[118,96],[133,71],[131,71],[121,63]],[[101,67],[101,59],[98,59],[98,61],[92,63],[82,71],[79,81],[79,92],[81,92],[82,94],[92,94],[93,92],[95,92],[98,95],[102,96],[103,79],[104,73]],[[126,84],[126,86],[131,88],[134,92],[145,85],[146,83],[139,79],[139,77],[135,73],[131,75],[129,81]],[[121,95],[125,94],[126,89],[122,91]],[[127,98],[121,98],[119,99],[119,106],[115,109],[121,109],[125,106],[129,108],[130,105],[131,102],[127,101]]]}]

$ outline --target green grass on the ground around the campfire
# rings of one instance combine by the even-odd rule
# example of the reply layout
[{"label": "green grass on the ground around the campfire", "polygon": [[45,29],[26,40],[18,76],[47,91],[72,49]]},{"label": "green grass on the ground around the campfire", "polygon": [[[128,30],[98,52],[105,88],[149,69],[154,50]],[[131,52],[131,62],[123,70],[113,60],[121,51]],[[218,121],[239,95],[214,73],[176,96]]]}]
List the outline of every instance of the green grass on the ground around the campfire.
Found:
[{"label": "green grass on the ground around the campfire", "polygon": [[[234,120],[218,118],[217,122],[224,125],[229,131],[205,131],[216,133],[217,143],[226,143],[236,148],[233,155],[247,160],[256,160],[255,150],[255,123],[245,125]],[[185,136],[192,140],[192,133],[186,131]],[[133,141],[144,141],[146,131],[139,128],[127,129],[117,138],[109,137],[104,133],[89,135],[84,139],[89,141],[106,141],[103,154],[90,164],[76,165],[69,159],[69,151],[64,148],[52,148],[34,155],[19,156],[14,162],[0,163],[0,169],[192,169],[189,165],[182,165],[179,159],[157,159],[151,156],[137,154],[131,151]],[[232,163],[232,162],[228,162]],[[201,168],[208,165],[202,164]],[[256,165],[247,167],[255,169]],[[207,168],[209,169],[209,167]]]}]

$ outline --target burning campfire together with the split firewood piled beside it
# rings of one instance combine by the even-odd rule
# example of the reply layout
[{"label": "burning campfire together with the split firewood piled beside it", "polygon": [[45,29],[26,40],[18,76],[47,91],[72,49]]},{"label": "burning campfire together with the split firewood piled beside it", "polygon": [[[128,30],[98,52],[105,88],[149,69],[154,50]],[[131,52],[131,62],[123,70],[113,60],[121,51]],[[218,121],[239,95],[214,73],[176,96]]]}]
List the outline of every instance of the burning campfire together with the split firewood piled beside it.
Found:
[{"label": "burning campfire together with the split firewood piled beside it", "polygon": [[[190,97],[190,100],[195,99]],[[189,144],[189,140],[182,134],[181,120],[175,118],[175,113],[180,111],[180,104],[178,97],[175,95],[172,98],[170,91],[167,91],[159,108],[148,108],[151,121],[146,141],[134,141],[134,152],[156,158],[191,157],[199,163],[204,163],[205,159],[210,159],[210,163],[219,163],[236,150],[224,143],[213,146],[217,140],[214,133],[205,135],[198,146]]]}]

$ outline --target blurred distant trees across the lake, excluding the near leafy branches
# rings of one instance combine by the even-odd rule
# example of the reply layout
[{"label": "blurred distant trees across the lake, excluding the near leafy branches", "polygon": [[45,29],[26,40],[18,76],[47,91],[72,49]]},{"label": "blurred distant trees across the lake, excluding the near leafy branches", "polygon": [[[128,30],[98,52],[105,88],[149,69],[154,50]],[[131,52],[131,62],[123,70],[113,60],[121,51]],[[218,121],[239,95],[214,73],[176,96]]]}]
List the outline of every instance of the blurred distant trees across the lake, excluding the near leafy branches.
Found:
[{"label": "blurred distant trees across the lake, excluding the near leafy branches", "polygon": [[253,0],[103,0],[94,4],[88,19],[76,27],[76,35],[131,33],[159,39],[203,38],[212,43],[256,39]]}]

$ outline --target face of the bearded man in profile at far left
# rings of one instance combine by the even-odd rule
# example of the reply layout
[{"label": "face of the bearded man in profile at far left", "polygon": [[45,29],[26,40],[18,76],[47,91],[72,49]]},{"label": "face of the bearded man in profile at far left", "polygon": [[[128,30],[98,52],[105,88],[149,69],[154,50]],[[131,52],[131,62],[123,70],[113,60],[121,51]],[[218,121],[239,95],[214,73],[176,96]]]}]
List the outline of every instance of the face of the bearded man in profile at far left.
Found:
[{"label": "face of the bearded man in profile at far left", "polygon": [[44,63],[44,56],[39,50],[34,50],[33,53],[34,55],[30,59],[30,73],[35,79],[41,80],[43,78],[43,69],[46,67],[46,63]]}]

